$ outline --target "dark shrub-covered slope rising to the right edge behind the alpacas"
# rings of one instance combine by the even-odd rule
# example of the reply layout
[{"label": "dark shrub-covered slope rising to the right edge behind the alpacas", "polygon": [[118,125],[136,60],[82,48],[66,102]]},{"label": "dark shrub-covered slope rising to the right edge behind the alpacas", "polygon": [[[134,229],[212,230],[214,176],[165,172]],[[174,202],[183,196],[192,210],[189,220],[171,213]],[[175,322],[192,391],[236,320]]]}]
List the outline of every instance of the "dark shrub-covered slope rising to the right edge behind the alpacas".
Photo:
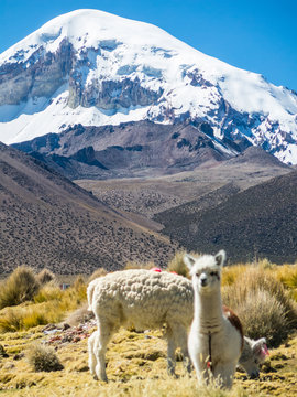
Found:
[{"label": "dark shrub-covered slope rising to the right edge behind the alpacas", "polygon": [[[215,192],[213,205],[193,201],[155,216],[164,233],[187,249],[224,248],[231,261],[255,257],[284,264],[297,259],[297,172],[231,196]],[[216,201],[217,200],[217,201]]]}]

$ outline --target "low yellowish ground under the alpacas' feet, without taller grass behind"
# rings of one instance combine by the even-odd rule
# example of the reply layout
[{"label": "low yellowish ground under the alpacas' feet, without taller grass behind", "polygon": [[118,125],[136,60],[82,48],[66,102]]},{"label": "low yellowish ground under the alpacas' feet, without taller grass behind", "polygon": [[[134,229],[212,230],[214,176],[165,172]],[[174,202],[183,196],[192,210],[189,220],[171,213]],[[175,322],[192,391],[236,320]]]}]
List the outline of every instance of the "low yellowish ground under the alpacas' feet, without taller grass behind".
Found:
[{"label": "low yellowish ground under the alpacas' feet, without taller grass behind", "polygon": [[[92,379],[88,371],[87,336],[96,329],[85,326],[55,331],[37,326],[25,332],[0,334],[8,357],[0,357],[0,395],[22,397],[48,396],[178,396],[197,395],[196,378],[185,376],[177,363],[179,378],[166,374],[166,342],[162,331],[120,330],[109,343],[107,353],[108,384]],[[63,371],[34,372],[28,362],[32,343],[55,347]],[[199,396],[286,396],[297,395],[297,334],[280,347],[271,350],[260,379],[251,380],[240,372],[231,393],[199,391]]]}]

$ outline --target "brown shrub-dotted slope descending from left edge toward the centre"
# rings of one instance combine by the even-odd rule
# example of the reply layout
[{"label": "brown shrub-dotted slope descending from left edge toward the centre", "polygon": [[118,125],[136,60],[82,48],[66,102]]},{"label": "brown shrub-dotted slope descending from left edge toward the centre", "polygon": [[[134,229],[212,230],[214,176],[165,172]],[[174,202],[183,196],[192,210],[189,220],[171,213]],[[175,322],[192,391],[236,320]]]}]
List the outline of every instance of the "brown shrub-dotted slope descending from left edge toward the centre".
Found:
[{"label": "brown shrub-dotted slope descending from left edge toward the centre", "polygon": [[0,143],[0,273],[18,265],[57,273],[165,265],[174,246],[31,157]]}]

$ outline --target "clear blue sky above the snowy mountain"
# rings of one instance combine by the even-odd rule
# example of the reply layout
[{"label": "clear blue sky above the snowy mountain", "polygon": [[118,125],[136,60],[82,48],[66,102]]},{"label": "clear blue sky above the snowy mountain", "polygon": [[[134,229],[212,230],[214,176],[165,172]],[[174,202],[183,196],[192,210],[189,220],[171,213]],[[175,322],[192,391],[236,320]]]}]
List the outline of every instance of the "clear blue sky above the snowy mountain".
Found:
[{"label": "clear blue sky above the snowy mountain", "polygon": [[153,23],[208,55],[297,90],[296,0],[0,0],[0,53],[52,18],[81,8]]}]

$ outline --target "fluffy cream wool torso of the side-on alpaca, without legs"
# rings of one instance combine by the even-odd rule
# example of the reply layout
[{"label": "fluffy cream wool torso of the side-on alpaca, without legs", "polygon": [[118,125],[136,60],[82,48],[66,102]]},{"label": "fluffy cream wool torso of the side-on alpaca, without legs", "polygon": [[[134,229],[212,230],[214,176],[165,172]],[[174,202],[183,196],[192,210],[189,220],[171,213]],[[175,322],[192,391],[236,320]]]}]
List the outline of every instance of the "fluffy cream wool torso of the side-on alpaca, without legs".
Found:
[{"label": "fluffy cream wool torso of the side-on alpaca, without legs", "polygon": [[190,281],[168,272],[117,271],[91,281],[88,297],[92,311],[114,325],[146,330],[174,322],[188,328],[193,319]]}]

